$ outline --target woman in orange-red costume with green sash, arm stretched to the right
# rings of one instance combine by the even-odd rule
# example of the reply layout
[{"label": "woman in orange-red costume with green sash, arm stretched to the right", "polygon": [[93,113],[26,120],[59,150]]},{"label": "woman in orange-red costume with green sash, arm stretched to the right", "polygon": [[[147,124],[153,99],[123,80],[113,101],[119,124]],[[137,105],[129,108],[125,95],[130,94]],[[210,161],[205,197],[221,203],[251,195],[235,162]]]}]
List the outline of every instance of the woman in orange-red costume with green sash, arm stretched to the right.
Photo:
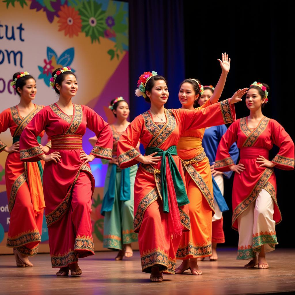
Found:
[{"label": "woman in orange-red costume with green sash, arm stretched to the right", "polygon": [[[174,273],[175,253],[183,230],[190,229],[184,174],[176,146],[184,130],[224,124],[235,119],[234,107],[244,90],[231,99],[202,110],[165,109],[169,92],[164,77],[145,72],[135,91],[150,102],[150,110],[137,116],[118,142],[118,163],[127,168],[141,162],[134,186],[134,229],[139,233],[142,271],[151,281]],[[138,140],[145,156],[136,149]]]}]

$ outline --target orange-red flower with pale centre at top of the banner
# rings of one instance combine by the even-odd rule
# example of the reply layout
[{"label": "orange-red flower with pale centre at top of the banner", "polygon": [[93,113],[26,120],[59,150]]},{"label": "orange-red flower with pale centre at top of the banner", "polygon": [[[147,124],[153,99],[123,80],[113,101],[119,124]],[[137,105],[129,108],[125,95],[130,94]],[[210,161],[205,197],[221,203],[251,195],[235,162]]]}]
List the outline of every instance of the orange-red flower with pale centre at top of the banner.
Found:
[{"label": "orange-red flower with pale centre at top of the banner", "polygon": [[65,36],[69,35],[70,38],[72,38],[73,35],[78,36],[82,27],[82,20],[79,12],[71,6],[63,5],[60,7],[58,15],[58,23],[60,24],[58,31],[64,30]]}]

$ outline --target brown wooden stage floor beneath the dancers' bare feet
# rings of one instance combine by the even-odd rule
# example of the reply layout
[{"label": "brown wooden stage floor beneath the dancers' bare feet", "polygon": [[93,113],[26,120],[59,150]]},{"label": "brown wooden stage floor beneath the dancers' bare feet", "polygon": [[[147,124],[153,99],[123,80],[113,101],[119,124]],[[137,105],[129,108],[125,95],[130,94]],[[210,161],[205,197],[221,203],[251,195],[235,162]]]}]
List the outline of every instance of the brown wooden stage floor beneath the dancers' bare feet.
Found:
[{"label": "brown wooden stage floor beneath the dancers' bare feet", "polygon": [[[235,259],[235,249],[220,249],[219,260],[208,258],[199,266],[202,276],[163,275],[164,281],[152,283],[141,272],[140,255],[114,261],[116,252],[97,252],[81,259],[80,277],[56,277],[50,268],[49,254],[31,259],[33,268],[17,268],[14,256],[0,256],[0,294],[161,294],[161,295],[231,295],[295,293],[295,250],[277,249],[268,253],[269,269],[245,269],[244,261]],[[177,265],[179,265],[178,262]]]}]

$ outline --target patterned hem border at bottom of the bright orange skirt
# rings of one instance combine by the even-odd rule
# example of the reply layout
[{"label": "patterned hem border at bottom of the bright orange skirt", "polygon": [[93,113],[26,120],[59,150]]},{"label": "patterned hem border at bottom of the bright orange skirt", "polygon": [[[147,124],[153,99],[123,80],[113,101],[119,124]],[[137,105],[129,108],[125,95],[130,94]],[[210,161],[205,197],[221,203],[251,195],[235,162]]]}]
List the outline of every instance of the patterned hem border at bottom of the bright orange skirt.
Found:
[{"label": "patterned hem border at bottom of the bright orange skirt", "polygon": [[212,244],[198,246],[194,245],[192,241],[189,241],[188,245],[182,245],[178,247],[176,252],[176,258],[190,257],[206,257],[212,255]]}]

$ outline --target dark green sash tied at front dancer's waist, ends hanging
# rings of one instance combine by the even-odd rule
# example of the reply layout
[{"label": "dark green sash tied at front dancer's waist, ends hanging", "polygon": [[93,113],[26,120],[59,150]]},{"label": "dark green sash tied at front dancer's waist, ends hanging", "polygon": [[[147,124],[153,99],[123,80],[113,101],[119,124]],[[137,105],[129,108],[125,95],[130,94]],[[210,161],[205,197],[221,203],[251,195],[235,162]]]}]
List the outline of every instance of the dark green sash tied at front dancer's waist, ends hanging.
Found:
[{"label": "dark green sash tied at front dancer's waist, ends hanging", "polygon": [[172,155],[177,155],[176,145],[172,145],[170,148],[168,148],[168,150],[165,150],[165,151],[161,150],[160,148],[153,148],[153,147],[148,147],[145,150],[146,155],[150,155],[156,152],[158,153],[156,156],[162,156],[161,194],[163,197],[163,212],[169,213],[168,189],[167,189],[167,182],[166,182],[166,157],[168,158],[168,164],[171,170],[178,207],[189,204],[189,199],[186,194],[186,189],[185,189],[182,177],[178,171],[178,167],[172,157]]}]

